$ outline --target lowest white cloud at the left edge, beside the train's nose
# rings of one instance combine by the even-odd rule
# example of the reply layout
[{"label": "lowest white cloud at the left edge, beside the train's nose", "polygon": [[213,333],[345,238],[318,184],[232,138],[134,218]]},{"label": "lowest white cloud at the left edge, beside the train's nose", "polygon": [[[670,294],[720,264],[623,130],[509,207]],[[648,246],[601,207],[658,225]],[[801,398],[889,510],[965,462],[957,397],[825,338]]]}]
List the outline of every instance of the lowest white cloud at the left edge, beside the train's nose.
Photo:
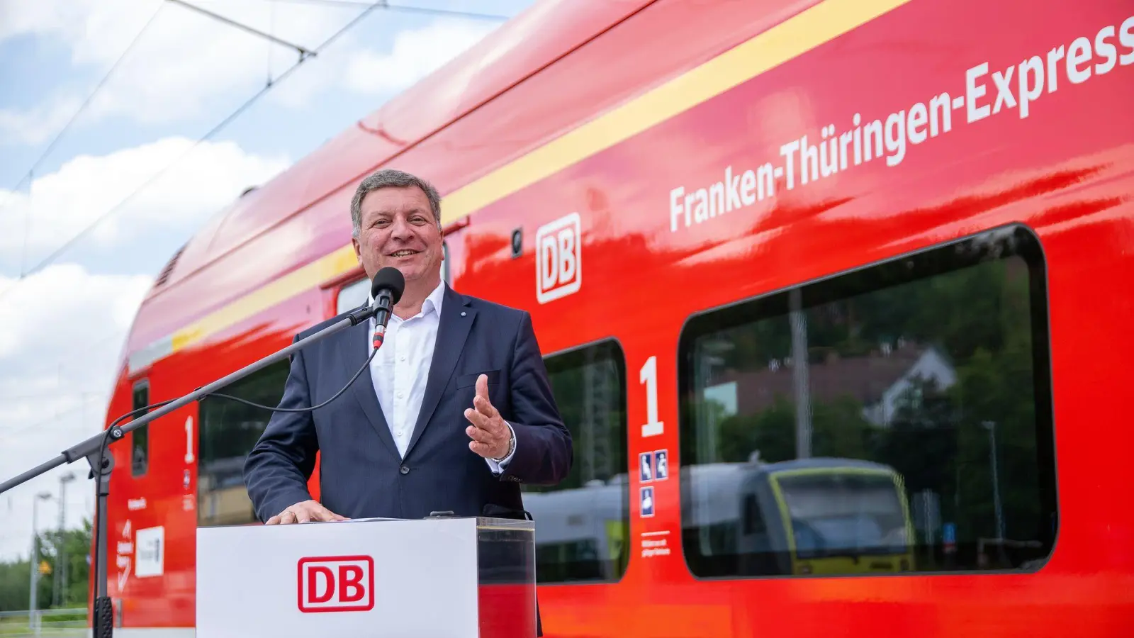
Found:
[{"label": "lowest white cloud at the left edge, beside the train's nose", "polygon": [[[147,276],[92,275],[53,265],[29,276],[0,304],[0,480],[50,460],[100,430],[122,342]],[[0,277],[0,289],[10,279]],[[40,492],[39,529],[58,524],[59,477],[67,488],[67,526],[93,512],[93,481],[78,461],[0,495],[0,561],[26,556],[32,501]]]}]

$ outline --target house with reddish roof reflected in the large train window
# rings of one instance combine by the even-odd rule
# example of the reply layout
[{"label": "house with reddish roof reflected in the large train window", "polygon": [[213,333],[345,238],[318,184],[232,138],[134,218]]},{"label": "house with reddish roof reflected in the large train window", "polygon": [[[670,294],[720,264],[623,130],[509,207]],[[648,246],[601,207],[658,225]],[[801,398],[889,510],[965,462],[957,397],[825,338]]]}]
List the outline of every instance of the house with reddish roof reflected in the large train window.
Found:
[{"label": "house with reddish roof reflected in the large train window", "polygon": [[[790,363],[779,360],[760,370],[726,370],[719,383],[704,389],[704,397],[722,408],[722,417],[753,414],[773,406],[777,396],[795,397]],[[933,345],[898,339],[883,344],[865,356],[840,356],[835,352],[807,367],[809,396],[814,402],[833,402],[849,396],[863,405],[863,418],[878,427],[888,427],[905,401],[917,406],[922,383],[933,383],[939,391],[957,381],[956,368]]]}]

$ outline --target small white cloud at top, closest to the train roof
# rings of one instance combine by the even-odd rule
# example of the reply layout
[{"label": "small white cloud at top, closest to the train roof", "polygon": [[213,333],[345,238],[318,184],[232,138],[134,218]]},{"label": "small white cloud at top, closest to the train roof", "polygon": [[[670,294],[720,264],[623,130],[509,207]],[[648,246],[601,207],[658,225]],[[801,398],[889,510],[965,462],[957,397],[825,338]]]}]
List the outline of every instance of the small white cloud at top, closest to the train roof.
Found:
[{"label": "small white cloud at top, closest to the train roof", "polygon": [[468,50],[497,27],[494,24],[438,20],[424,28],[403,31],[389,51],[357,51],[350,56],[345,83],[358,93],[393,93],[411,86]]}]

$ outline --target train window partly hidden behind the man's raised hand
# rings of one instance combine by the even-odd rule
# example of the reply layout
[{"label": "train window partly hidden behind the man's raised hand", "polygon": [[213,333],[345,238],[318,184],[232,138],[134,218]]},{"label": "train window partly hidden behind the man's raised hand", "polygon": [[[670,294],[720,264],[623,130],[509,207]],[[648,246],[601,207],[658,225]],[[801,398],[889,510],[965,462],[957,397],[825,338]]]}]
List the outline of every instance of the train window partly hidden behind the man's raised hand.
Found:
[{"label": "train window partly hidden behind the man's raised hand", "polygon": [[525,485],[541,584],[610,582],[629,557],[626,362],[615,341],[545,359],[575,462],[556,486]]}]

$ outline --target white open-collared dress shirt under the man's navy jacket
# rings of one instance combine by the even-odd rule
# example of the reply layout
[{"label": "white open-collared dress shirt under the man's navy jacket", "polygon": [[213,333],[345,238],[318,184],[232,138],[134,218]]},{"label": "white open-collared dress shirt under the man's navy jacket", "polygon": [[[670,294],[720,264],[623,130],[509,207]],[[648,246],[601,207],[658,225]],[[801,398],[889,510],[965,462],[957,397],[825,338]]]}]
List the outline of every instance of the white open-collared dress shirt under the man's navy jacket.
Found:
[{"label": "white open-collared dress shirt under the man's navy jacket", "polygon": [[[409,319],[400,319],[390,313],[390,320],[386,324],[386,335],[382,339],[382,347],[370,362],[370,376],[374,381],[374,392],[378,394],[378,403],[382,406],[382,414],[390,426],[390,434],[393,443],[398,447],[398,454],[406,455],[406,447],[414,434],[414,426],[417,423],[417,414],[421,412],[422,397],[425,395],[425,384],[429,381],[429,370],[433,362],[433,345],[437,343],[437,330],[441,325],[441,303],[445,301],[445,282],[425,299],[422,310]],[[367,304],[374,303],[371,295]],[[375,319],[370,318],[366,337],[366,356],[374,352]],[[473,408],[472,404],[468,405]],[[507,421],[505,421],[507,422]],[[466,420],[466,427],[467,420]],[[511,429],[511,423],[508,423]],[[515,431],[511,433],[515,439]],[[472,439],[469,439],[472,440]],[[505,456],[499,463],[492,459],[485,459],[489,468],[499,473],[511,461],[511,454]]]}]

